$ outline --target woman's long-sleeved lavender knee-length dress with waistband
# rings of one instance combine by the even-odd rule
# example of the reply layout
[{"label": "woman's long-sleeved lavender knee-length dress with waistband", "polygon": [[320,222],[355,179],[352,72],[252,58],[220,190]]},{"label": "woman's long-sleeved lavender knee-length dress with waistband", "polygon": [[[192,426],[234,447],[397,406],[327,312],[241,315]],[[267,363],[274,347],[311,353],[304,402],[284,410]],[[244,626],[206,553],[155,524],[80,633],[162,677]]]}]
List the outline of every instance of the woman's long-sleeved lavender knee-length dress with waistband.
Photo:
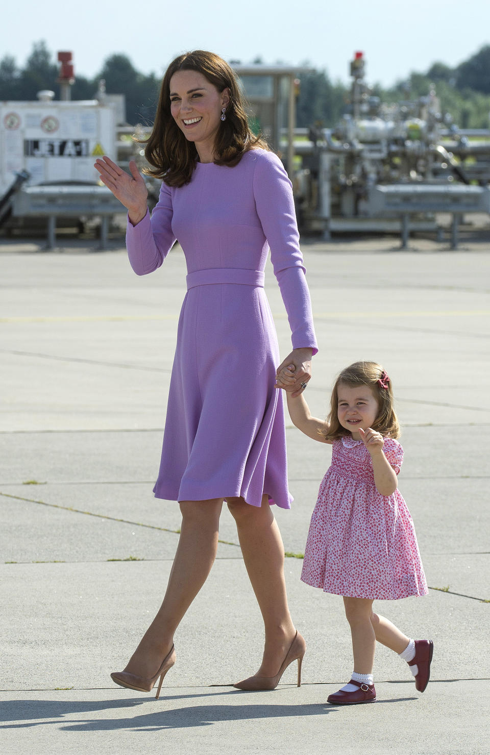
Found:
[{"label": "woman's long-sleeved lavender knee-length dress with waistband", "polygon": [[273,153],[234,168],[197,163],[190,183],[162,183],[159,202],[126,245],[138,275],[160,267],[175,239],[187,293],[177,331],[162,461],[154,493],[171,501],[242,496],[289,508],[279,348],[263,290],[269,247],[294,348],[316,353],[291,182]]}]

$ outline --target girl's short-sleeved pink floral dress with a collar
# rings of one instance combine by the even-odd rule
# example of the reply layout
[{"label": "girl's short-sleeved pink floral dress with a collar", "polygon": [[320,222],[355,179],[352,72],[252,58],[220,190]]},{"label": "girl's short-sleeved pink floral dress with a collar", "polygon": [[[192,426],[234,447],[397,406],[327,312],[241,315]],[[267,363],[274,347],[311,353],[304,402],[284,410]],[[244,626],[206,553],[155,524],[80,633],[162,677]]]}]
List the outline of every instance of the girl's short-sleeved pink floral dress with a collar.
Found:
[{"label": "girl's short-sleeved pink floral dress with a collar", "polygon": [[[399,473],[403,448],[384,439],[384,454]],[[326,593],[396,600],[427,595],[427,581],[407,505],[397,489],[381,495],[361,440],[335,440],[331,467],[319,488],[301,580]]]}]

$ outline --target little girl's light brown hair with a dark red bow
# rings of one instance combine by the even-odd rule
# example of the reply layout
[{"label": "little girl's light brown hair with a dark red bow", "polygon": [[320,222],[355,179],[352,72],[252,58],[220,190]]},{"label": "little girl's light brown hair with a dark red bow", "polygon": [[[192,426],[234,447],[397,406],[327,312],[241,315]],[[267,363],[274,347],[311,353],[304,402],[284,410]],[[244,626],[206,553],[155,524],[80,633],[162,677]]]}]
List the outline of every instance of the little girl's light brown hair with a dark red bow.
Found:
[{"label": "little girl's light brown hair with a dark red bow", "polygon": [[341,383],[349,387],[357,385],[370,387],[379,408],[378,416],[374,420],[373,430],[389,438],[399,438],[400,426],[393,406],[393,387],[390,377],[388,377],[384,368],[378,365],[378,362],[354,362],[353,365],[341,371],[331,392],[330,414],[328,414],[326,421],[328,430],[322,433],[326,440],[331,441],[350,435],[350,431],[342,427],[337,417],[338,387]]}]

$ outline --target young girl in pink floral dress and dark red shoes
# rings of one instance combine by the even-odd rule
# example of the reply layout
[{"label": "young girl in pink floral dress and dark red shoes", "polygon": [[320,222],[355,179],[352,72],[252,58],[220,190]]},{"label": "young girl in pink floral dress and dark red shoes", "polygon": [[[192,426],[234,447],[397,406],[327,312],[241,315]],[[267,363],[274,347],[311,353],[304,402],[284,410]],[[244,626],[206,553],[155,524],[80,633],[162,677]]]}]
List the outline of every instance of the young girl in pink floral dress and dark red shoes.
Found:
[{"label": "young girl in pink floral dress and dark red shoes", "polygon": [[[282,384],[293,380],[286,368]],[[306,387],[306,384],[304,384]],[[336,705],[376,699],[376,640],[408,662],[424,692],[433,643],[413,640],[372,611],[374,599],[427,595],[414,525],[397,489],[403,449],[390,377],[376,362],[356,362],[337,377],[327,421],[311,416],[303,394],[286,392],[291,420],[313,440],[331,443],[332,459],[310,523],[301,580],[344,596],[354,672],[328,697]]]}]

